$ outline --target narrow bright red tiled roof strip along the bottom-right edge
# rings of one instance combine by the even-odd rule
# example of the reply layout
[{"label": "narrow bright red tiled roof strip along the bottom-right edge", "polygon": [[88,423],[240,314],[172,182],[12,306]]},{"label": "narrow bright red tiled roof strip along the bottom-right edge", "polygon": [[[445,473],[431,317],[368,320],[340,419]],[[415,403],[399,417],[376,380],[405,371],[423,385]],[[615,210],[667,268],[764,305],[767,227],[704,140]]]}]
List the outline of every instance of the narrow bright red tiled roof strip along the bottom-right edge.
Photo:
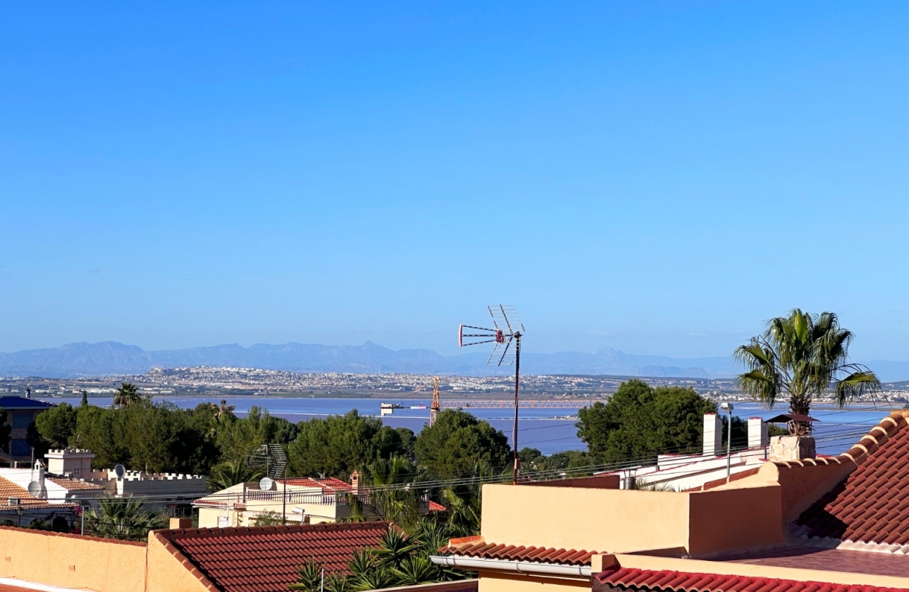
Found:
[{"label": "narrow bright red tiled roof strip along the bottom-right edge", "polygon": [[905,592],[906,588],[848,586],[799,582],[774,577],[724,576],[679,571],[613,567],[594,577],[594,592],[607,589],[666,590],[671,592]]}]

